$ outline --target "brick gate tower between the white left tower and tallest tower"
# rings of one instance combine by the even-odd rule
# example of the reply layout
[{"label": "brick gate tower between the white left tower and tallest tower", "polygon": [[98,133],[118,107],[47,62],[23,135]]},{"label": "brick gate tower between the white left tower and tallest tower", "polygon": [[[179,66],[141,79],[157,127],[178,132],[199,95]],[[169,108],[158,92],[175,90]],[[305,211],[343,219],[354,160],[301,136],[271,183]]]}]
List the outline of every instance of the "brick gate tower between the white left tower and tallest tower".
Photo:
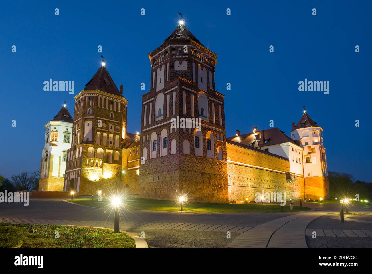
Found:
[{"label": "brick gate tower between the white left tower and tallest tower", "polygon": [[114,187],[121,180],[128,101],[105,63],[77,94],[71,148],[67,151],[64,191],[81,195]]}]

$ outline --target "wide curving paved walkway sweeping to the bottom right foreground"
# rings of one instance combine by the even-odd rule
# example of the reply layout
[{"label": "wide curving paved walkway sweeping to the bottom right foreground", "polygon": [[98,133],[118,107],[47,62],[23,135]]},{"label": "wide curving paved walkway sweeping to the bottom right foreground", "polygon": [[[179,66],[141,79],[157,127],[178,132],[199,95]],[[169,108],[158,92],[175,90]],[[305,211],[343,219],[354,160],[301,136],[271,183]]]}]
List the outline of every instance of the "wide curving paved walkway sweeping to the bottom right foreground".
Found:
[{"label": "wide curving paved walkway sweeping to the bottom right foreground", "polygon": [[255,226],[241,233],[227,248],[307,248],[305,229],[325,213],[300,213]]}]

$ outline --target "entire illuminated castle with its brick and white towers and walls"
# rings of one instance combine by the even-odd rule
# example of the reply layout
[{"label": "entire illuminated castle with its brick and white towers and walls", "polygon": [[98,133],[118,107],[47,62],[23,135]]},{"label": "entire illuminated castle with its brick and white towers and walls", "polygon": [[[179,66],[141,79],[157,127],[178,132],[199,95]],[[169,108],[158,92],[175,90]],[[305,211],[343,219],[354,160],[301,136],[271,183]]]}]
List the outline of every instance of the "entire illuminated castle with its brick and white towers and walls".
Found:
[{"label": "entire illuminated castle with its brick and white towers and walls", "polygon": [[[141,133],[126,132],[128,101],[103,62],[74,97],[64,176],[55,171],[64,148],[56,154],[53,142],[59,139],[50,139],[39,191],[90,195],[120,188],[140,198],[172,200],[181,193],[189,201],[211,203],[253,201],[262,190],[285,192],[287,200],[329,197],[323,129],[306,110],[293,123],[291,137],[278,128],[237,130],[227,137],[225,96],[215,90],[217,55],[180,24],[149,58],[151,87],[142,95]],[[172,126],[174,119],[197,118],[198,126]]]}]

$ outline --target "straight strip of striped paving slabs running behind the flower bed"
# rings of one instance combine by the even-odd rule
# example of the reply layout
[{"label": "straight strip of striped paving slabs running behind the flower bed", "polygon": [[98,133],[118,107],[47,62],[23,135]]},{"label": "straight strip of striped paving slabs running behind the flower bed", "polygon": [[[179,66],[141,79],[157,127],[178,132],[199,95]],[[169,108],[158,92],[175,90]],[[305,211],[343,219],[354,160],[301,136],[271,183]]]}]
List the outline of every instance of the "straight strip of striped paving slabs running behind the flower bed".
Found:
[{"label": "straight strip of striped paving slabs running behind the flower bed", "polygon": [[[76,225],[76,226],[99,226],[112,228],[113,222],[104,221],[73,221],[73,220],[45,220],[45,219],[17,219],[17,218],[0,218],[0,222],[9,223],[31,223],[42,225]],[[219,231],[219,232],[236,232],[243,233],[252,227],[235,226],[235,225],[206,225],[198,223],[148,223],[148,222],[121,222],[120,228],[131,229],[174,229],[190,231]]]}]

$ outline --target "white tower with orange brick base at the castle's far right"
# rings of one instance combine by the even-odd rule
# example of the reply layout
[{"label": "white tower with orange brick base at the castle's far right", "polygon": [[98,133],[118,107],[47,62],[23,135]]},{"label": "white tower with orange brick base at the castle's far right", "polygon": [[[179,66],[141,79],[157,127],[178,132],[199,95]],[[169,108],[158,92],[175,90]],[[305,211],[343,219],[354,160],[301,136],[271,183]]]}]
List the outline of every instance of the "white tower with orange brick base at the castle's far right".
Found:
[{"label": "white tower with orange brick base at the castle's far right", "polygon": [[291,138],[300,140],[304,147],[302,162],[305,177],[306,199],[329,199],[328,171],[323,144],[323,129],[308,115],[306,109],[295,125],[292,123]]}]

